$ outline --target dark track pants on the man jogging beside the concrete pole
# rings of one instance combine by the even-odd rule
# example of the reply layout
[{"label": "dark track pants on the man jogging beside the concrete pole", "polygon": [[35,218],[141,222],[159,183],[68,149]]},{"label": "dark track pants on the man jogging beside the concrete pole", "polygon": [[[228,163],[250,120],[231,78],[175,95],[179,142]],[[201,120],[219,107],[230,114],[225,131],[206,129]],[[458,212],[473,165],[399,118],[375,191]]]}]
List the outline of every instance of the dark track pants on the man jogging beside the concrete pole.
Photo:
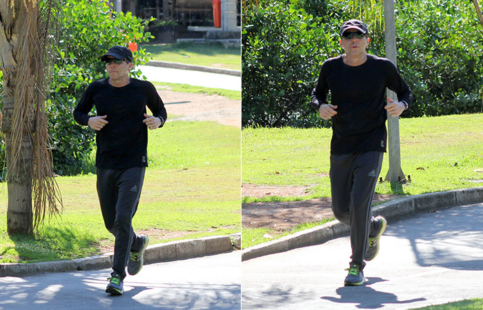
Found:
[{"label": "dark track pants on the man jogging beside the concrete pole", "polygon": [[360,266],[365,265],[371,229],[376,229],[371,203],[382,157],[382,152],[331,154],[332,210],[339,222],[351,227],[351,259]]}]

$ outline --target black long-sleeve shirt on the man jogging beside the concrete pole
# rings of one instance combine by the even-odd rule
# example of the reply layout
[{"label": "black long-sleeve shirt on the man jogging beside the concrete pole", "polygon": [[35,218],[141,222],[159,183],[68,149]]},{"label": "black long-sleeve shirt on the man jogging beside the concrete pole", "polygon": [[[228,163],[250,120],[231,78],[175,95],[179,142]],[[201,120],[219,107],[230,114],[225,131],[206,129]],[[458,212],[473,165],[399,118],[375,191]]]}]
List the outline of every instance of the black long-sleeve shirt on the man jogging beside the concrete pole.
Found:
[{"label": "black long-sleeve shirt on the man jogging beside the concrete pole", "polygon": [[327,59],[322,64],[311,102],[318,111],[320,105],[337,105],[333,120],[332,154],[386,152],[387,131],[386,87],[397,94],[398,101],[411,105],[413,94],[395,65],[371,54],[362,65],[346,65],[343,56]]}]

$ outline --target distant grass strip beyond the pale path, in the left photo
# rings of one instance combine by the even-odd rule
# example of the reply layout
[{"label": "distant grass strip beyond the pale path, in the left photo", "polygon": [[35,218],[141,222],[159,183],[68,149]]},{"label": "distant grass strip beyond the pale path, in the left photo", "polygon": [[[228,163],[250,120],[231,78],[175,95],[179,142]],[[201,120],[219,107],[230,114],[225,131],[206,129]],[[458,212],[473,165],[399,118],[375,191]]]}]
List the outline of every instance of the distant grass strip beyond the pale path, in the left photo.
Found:
[{"label": "distant grass strip beyond the pale path, in the left photo", "polygon": [[150,52],[154,61],[242,70],[240,48],[224,48],[221,44],[198,43],[143,44],[139,48]]}]

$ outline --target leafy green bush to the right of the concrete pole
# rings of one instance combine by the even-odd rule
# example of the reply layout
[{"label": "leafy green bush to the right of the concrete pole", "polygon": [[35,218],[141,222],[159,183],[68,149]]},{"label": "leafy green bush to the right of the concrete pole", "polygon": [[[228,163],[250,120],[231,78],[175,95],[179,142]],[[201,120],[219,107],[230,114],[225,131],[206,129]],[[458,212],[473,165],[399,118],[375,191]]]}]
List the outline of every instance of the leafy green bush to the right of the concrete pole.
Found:
[{"label": "leafy green bush to the right of the concrete pole", "polygon": [[397,61],[415,97],[408,116],[482,111],[482,25],[471,1],[401,1]]}]

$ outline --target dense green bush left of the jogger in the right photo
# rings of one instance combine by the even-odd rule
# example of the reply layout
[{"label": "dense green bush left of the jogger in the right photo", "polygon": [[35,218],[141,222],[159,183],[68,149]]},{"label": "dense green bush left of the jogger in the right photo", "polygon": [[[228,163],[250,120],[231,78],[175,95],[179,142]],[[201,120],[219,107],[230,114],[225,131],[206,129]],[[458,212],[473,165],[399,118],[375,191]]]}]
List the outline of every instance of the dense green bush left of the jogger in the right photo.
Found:
[{"label": "dense green bush left of the jogger in the right photo", "polygon": [[[339,53],[339,21],[302,8],[305,1],[267,1],[244,11],[242,30],[243,125],[304,126],[320,60]],[[318,121],[318,120],[317,120]]]}]

